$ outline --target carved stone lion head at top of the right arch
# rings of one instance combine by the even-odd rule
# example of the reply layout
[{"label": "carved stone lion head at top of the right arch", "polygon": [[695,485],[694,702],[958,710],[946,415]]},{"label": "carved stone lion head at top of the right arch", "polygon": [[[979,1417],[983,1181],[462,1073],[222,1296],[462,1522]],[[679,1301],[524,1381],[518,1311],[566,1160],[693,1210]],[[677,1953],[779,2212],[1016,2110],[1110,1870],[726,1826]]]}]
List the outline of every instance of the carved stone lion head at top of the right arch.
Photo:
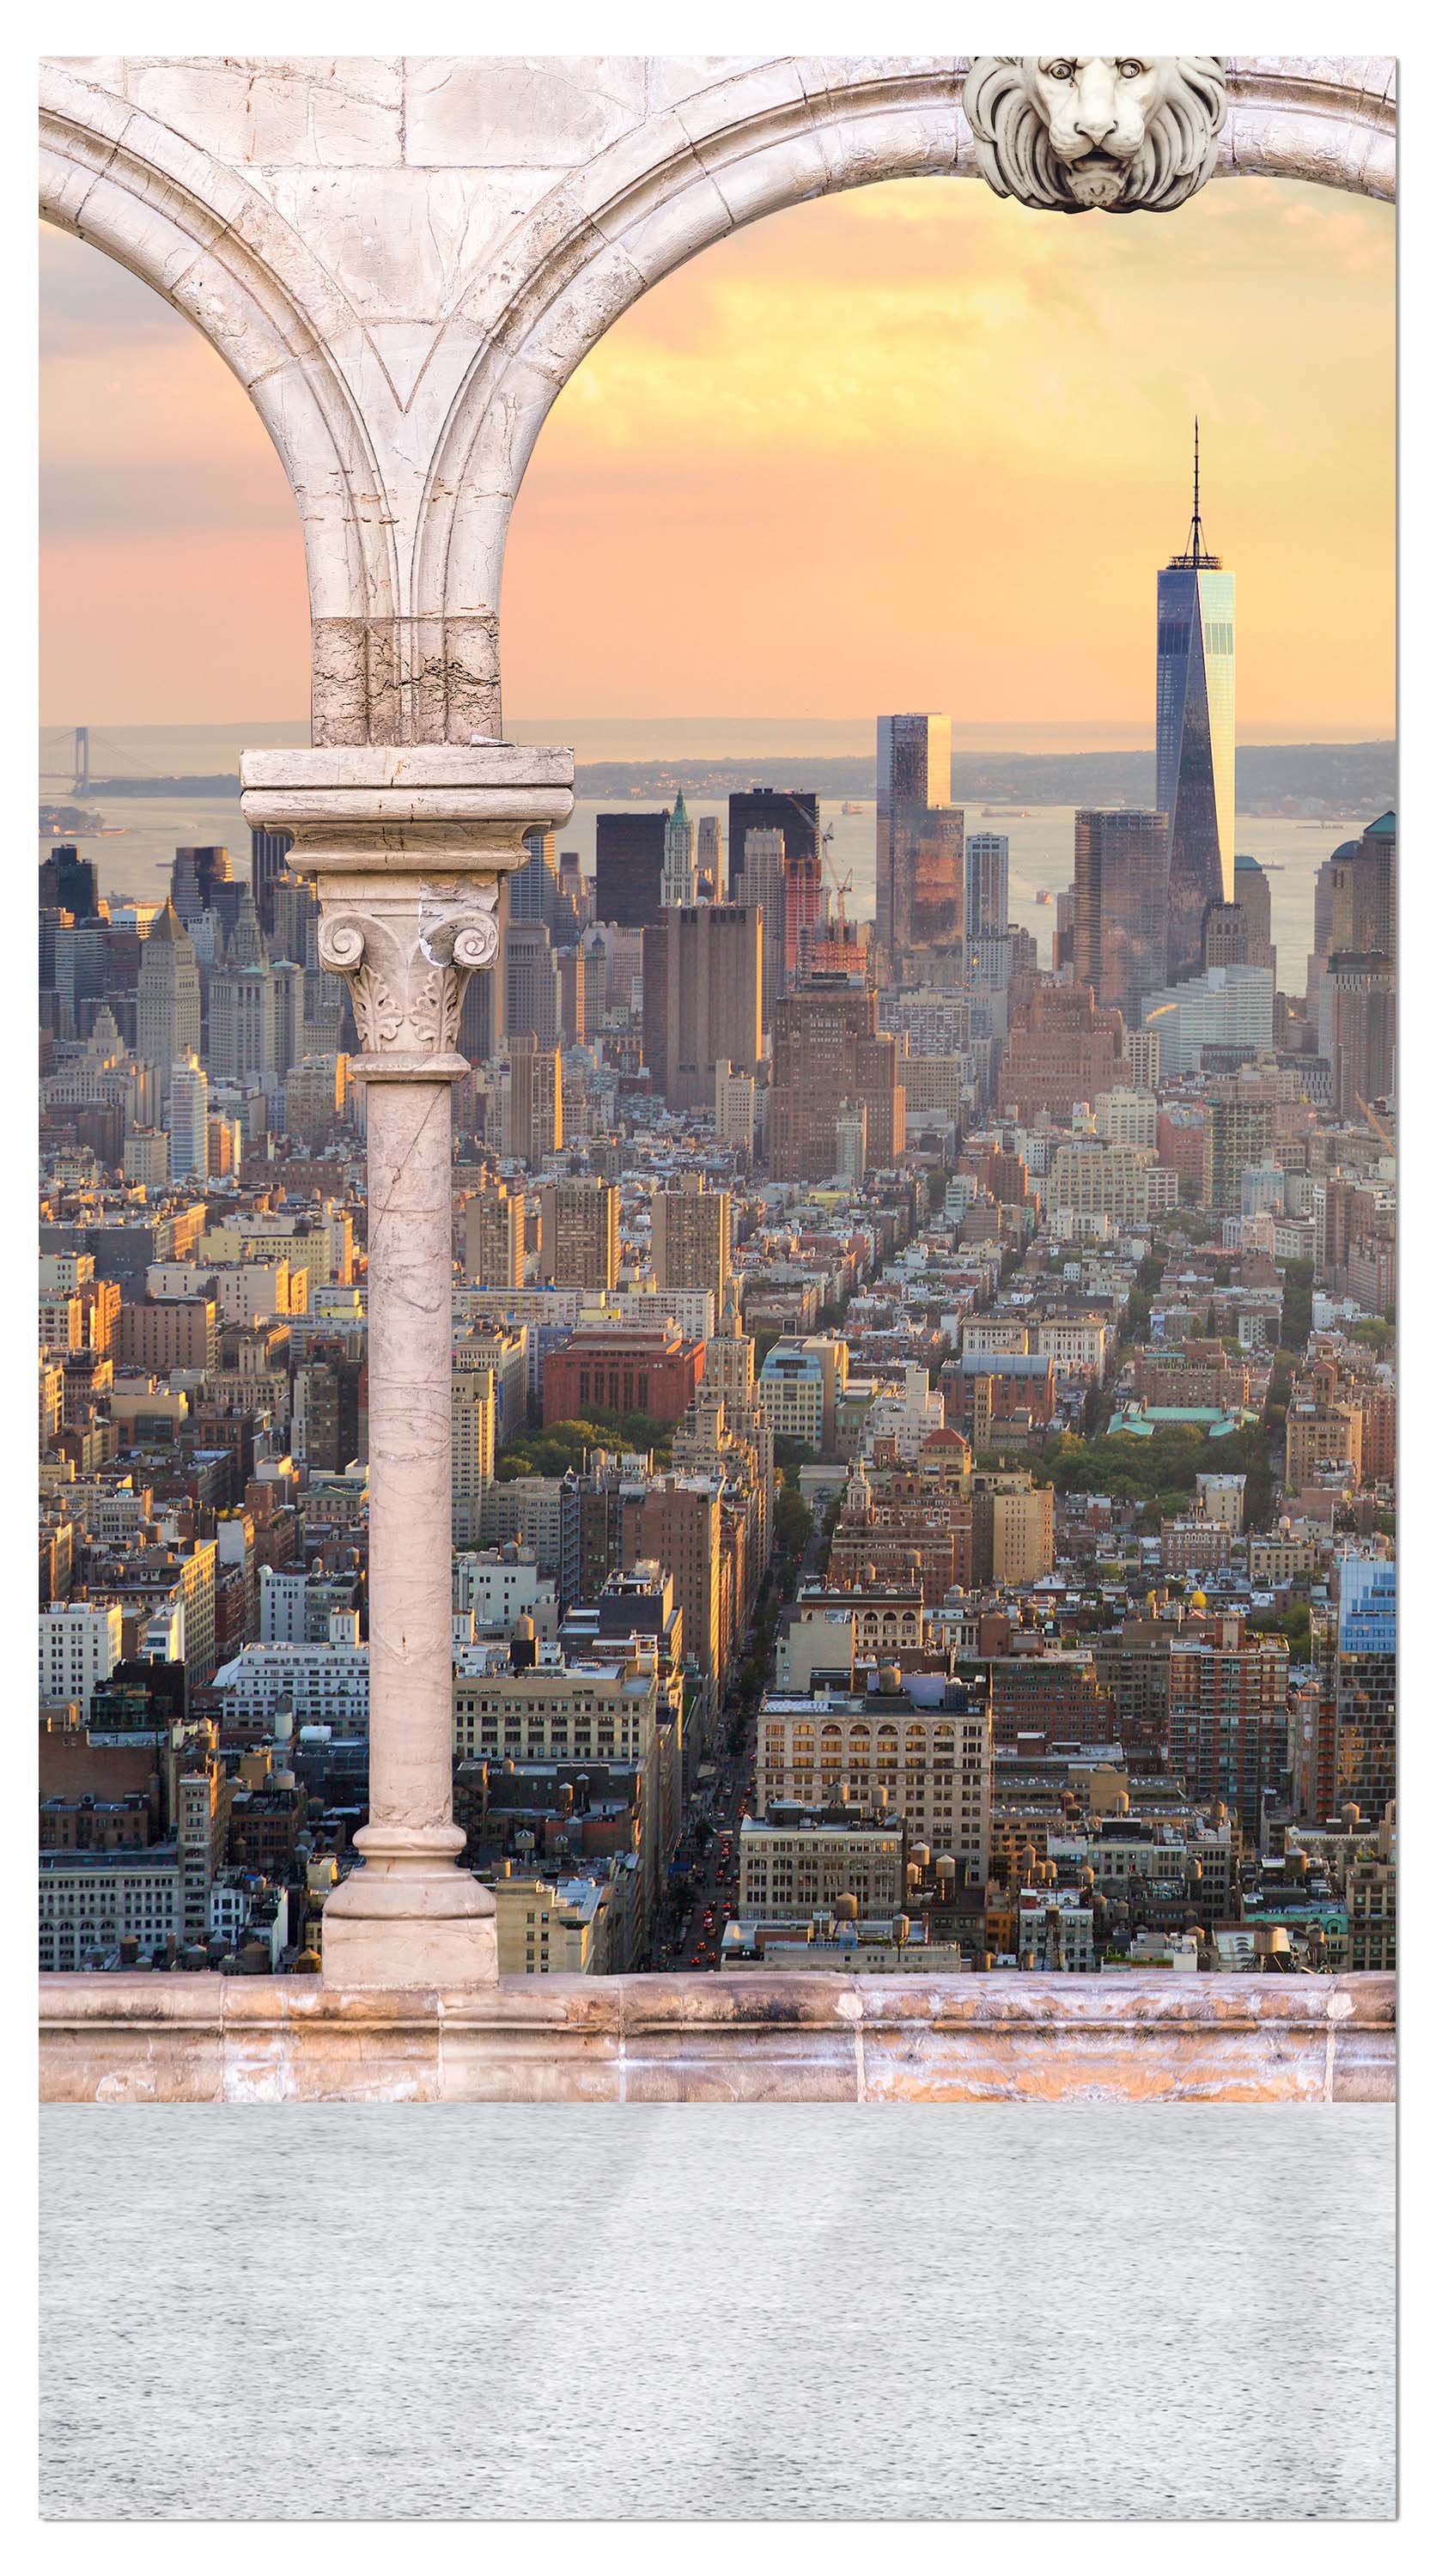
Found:
[{"label": "carved stone lion head at top of the right arch", "polygon": [[982,178],[1054,214],[1168,214],[1227,121],[1217,54],[977,54],[962,98]]}]

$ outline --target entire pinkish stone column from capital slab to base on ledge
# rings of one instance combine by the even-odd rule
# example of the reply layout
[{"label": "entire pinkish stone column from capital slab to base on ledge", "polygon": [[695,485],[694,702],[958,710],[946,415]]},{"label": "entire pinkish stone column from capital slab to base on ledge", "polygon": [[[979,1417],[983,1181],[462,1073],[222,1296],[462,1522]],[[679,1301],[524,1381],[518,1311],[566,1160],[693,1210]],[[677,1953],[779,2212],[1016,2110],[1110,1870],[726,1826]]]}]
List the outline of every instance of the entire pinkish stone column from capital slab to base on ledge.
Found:
[{"label": "entire pinkish stone column from capital slab to base on ledge", "polygon": [[451,1084],[498,961],[500,876],[572,811],[572,755],[510,742],[245,752],[250,824],[315,878],[369,1103],[369,1824],[325,1906],[333,1986],[498,1976],[492,1896],[456,1868],[451,1752]]}]

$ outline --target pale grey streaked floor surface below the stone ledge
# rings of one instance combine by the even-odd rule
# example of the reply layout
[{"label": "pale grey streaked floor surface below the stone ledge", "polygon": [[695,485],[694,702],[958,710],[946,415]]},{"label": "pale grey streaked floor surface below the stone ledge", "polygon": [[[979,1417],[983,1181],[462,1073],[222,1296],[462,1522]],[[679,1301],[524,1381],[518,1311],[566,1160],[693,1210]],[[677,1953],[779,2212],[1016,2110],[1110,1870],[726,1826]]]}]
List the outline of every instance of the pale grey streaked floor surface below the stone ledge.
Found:
[{"label": "pale grey streaked floor surface below the stone ledge", "polygon": [[1395,2123],[49,2110],[41,2512],[1387,2519]]}]

